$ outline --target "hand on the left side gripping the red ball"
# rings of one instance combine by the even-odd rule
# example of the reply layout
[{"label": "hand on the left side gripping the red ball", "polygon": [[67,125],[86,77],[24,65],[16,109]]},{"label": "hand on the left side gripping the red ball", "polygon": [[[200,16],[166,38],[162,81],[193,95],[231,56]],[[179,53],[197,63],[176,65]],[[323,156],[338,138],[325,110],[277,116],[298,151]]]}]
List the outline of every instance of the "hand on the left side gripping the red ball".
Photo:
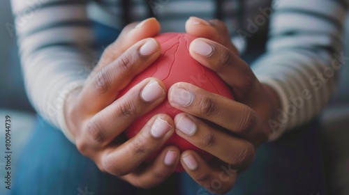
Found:
[{"label": "hand on the left side gripping the red ball", "polygon": [[158,185],[177,167],[179,149],[174,146],[164,148],[154,162],[143,163],[172,136],[173,120],[158,114],[132,139],[122,133],[165,100],[166,88],[161,80],[148,78],[115,99],[161,54],[159,43],[150,38],[159,31],[160,24],[153,18],[138,27],[135,23],[126,26],[105,49],[84,86],[70,93],[64,108],[68,130],[80,153],[94,160],[101,171],[142,188]]}]

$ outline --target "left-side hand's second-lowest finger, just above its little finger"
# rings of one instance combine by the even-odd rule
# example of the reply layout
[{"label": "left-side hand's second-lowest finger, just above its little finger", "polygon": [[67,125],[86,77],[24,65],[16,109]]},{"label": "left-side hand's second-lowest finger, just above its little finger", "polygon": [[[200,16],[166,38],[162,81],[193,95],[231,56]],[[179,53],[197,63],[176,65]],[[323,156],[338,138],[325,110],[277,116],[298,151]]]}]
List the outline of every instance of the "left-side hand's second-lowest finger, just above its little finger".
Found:
[{"label": "left-side hand's second-lowest finger, just above its little finger", "polygon": [[105,150],[101,157],[103,169],[114,176],[131,173],[172,136],[173,127],[170,116],[165,114],[154,116],[135,137],[117,148]]}]

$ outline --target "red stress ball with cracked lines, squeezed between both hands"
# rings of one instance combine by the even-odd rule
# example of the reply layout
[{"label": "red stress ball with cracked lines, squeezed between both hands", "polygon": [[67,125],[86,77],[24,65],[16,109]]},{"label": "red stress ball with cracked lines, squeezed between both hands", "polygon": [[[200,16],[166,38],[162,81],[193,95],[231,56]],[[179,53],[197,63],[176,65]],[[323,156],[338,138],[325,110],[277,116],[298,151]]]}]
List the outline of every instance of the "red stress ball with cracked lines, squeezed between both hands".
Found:
[{"label": "red stress ball with cracked lines, squeezed between both hands", "polygon": [[[186,33],[163,33],[156,36],[155,39],[161,44],[161,55],[149,66],[149,68],[137,75],[130,84],[121,91],[120,95],[124,95],[126,91],[130,90],[143,79],[156,77],[164,82],[167,89],[173,84],[183,81],[203,88],[211,93],[216,93],[233,99],[230,89],[225,82],[218,77],[216,72],[201,65],[189,54],[189,45],[195,38],[196,37]],[[171,107],[166,99],[163,103],[158,105],[158,107],[135,120],[135,122],[125,131],[126,136],[128,138],[134,137],[135,134],[140,132],[142,127],[144,127],[149,119],[155,114],[168,114],[174,118],[174,116],[179,113],[181,113],[181,111]],[[166,146],[177,146],[181,151],[195,150],[206,161],[212,157],[209,153],[201,150],[174,133],[162,148],[153,153],[149,159],[147,159],[147,162],[151,162]],[[181,164],[176,168],[176,172],[179,171],[184,171]]]}]

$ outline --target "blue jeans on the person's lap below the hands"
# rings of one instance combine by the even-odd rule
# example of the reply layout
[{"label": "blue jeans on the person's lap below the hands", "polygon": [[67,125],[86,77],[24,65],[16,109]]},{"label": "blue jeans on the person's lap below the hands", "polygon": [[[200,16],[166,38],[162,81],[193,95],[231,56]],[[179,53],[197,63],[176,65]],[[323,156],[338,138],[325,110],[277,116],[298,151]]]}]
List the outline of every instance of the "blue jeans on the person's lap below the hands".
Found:
[{"label": "blue jeans on the person's lap below the hands", "polygon": [[[112,42],[119,33],[101,24],[94,26],[98,48]],[[227,194],[325,194],[317,130],[314,122],[306,130],[260,146],[251,168],[239,175]],[[137,189],[101,173],[48,123],[38,123],[17,169],[12,194],[211,194],[186,173],[175,173],[154,189]],[[211,189],[222,183],[212,181]]]}]

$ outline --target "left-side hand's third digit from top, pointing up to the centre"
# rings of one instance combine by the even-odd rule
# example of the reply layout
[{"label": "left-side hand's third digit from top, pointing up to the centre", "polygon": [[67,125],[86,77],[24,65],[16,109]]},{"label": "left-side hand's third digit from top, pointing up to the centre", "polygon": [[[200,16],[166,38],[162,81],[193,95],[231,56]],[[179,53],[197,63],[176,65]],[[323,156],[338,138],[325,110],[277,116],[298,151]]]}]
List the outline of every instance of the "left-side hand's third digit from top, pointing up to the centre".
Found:
[{"label": "left-side hand's third digit from top, pointing up to the centre", "polygon": [[[85,125],[81,139],[105,146],[133,121],[165,100],[165,84],[155,78],[141,81],[121,98],[94,115]],[[78,140],[77,140],[78,141]]]}]

